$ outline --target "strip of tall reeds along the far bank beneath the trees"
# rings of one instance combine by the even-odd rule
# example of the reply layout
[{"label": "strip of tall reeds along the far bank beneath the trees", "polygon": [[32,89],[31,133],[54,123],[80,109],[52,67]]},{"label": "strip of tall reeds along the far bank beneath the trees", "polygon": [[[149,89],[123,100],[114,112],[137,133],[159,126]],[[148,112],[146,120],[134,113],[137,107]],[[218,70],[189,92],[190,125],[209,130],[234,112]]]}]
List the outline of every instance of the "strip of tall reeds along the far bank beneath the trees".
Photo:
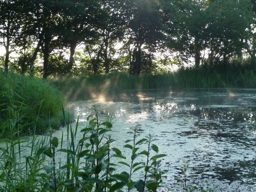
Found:
[{"label": "strip of tall reeds along the far bank beneath the trees", "polygon": [[48,81],[67,96],[79,98],[88,92],[107,92],[136,89],[185,88],[256,88],[252,70],[216,71],[205,68],[180,68],[162,74],[133,76],[127,73],[97,74],[90,77],[50,77]]}]

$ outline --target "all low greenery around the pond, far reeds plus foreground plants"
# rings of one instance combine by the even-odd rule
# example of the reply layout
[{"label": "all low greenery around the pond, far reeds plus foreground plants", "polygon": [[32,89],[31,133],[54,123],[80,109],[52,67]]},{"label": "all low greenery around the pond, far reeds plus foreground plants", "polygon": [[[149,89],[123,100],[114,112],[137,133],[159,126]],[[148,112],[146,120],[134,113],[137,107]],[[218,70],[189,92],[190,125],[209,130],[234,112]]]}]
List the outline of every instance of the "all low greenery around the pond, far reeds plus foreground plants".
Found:
[{"label": "all low greenery around the pond, far reeds plus foreground plants", "polygon": [[[234,73],[235,72],[235,73]],[[114,141],[107,132],[111,131],[112,118],[106,116],[98,107],[92,107],[93,113],[88,116],[88,124],[82,130],[84,137],[75,144],[77,126],[72,128],[69,112],[64,110],[65,102],[72,94],[77,98],[86,93],[122,91],[135,89],[184,89],[184,88],[255,88],[256,76],[252,70],[234,70],[217,73],[204,68],[180,68],[178,71],[161,74],[144,74],[139,76],[114,72],[90,77],[63,76],[41,77],[19,75],[11,70],[8,74],[0,71],[0,141],[6,143],[0,147],[0,189],[1,191],[130,191],[156,192],[157,188],[167,187],[161,179],[167,170],[161,170],[161,157],[157,140],[151,135],[139,140],[139,130],[131,130],[131,140],[123,146],[131,150],[131,162],[127,162],[117,148],[110,148]],[[101,118],[107,118],[101,122]],[[63,120],[61,120],[63,119]],[[63,123],[62,123],[63,122]],[[64,125],[67,131],[68,145],[63,147],[61,138],[52,136],[54,129]],[[106,134],[105,134],[106,133]],[[39,136],[41,134],[42,136]],[[22,135],[31,135],[22,140]],[[105,142],[105,143],[104,143]],[[129,144],[129,142],[131,144]],[[76,142],[77,143],[77,142]],[[139,145],[148,146],[140,151]],[[30,155],[22,155],[25,149]],[[151,150],[151,152],[149,152]],[[56,155],[64,154],[60,162]],[[134,161],[137,156],[146,156],[146,162]],[[25,158],[25,160],[22,160]],[[85,166],[80,169],[80,159]],[[115,172],[116,163],[110,158],[121,159],[119,166],[128,167],[128,172]],[[197,188],[188,185],[186,175],[188,165],[180,171],[184,179],[176,180],[184,184],[183,191],[213,191],[210,188]],[[144,171],[143,178],[132,180],[132,172]],[[193,182],[193,181],[192,181]],[[167,187],[168,188],[168,187]],[[182,188],[182,187],[181,187]]]}]

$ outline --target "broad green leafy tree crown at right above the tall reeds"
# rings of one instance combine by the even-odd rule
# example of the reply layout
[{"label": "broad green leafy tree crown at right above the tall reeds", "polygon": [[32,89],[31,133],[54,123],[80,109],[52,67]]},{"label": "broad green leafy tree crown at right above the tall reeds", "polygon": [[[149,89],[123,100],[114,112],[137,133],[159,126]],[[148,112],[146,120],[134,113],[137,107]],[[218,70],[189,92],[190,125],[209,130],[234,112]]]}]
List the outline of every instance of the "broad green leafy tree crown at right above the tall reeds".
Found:
[{"label": "broad green leafy tree crown at right above the tall reeds", "polygon": [[241,55],[249,26],[248,0],[174,0],[162,4],[167,46],[183,60],[194,58],[199,67],[202,52],[213,64]]}]

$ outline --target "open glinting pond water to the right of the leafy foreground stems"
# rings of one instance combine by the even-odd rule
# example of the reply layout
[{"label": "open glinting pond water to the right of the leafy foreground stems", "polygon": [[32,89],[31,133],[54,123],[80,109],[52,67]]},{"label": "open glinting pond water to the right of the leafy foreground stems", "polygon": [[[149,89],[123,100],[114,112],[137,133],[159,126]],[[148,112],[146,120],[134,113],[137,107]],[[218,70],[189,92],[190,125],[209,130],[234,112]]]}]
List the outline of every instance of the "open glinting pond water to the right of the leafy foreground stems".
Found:
[{"label": "open glinting pond water to the right of the leafy foreground stems", "polygon": [[[95,94],[70,101],[66,108],[79,116],[79,129],[92,113],[92,104],[113,114],[112,138],[122,149],[134,127],[157,136],[163,177],[171,191],[181,191],[174,178],[189,165],[197,174],[190,183],[214,191],[256,191],[256,90],[150,90]],[[75,123],[74,123],[75,124]],[[75,126],[75,125],[73,125]],[[82,134],[81,134],[82,136]]]}]

